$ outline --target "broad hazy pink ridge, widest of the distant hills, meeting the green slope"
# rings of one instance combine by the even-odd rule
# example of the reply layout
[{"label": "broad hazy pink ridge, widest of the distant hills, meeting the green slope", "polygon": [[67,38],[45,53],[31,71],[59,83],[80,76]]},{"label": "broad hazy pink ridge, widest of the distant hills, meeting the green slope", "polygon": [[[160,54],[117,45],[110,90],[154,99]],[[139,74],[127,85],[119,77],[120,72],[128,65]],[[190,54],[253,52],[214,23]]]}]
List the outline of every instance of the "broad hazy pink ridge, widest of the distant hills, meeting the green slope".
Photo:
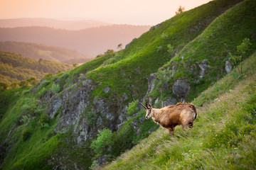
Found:
[{"label": "broad hazy pink ridge, widest of the distant hills, meeting the green slope", "polygon": [[85,30],[46,27],[0,28],[0,41],[34,42],[65,47],[87,55],[99,55],[117,45],[127,45],[149,30],[149,26],[113,25]]}]

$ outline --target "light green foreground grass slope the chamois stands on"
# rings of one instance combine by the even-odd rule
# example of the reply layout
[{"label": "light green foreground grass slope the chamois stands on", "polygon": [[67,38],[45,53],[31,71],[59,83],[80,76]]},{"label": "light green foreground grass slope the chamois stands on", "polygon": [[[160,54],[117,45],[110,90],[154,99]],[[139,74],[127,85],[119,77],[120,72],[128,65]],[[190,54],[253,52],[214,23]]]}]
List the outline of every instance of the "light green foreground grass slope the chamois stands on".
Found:
[{"label": "light green foreground grass slope the chamois stands on", "polygon": [[[159,128],[103,169],[255,169],[256,53],[193,101],[193,129]],[[210,100],[206,101],[206,98]]]}]

